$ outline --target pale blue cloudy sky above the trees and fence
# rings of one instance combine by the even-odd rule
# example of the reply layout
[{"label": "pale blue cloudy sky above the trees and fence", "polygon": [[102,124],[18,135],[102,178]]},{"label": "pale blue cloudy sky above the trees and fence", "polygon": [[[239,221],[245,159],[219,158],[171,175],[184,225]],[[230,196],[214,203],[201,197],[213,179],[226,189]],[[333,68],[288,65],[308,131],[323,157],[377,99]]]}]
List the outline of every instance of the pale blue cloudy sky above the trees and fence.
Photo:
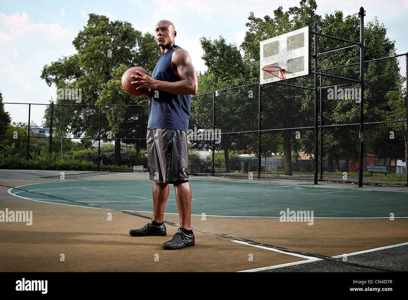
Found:
[{"label": "pale blue cloudy sky above the trees and fence", "polygon": [[[159,0],[159,1],[4,1],[0,0],[0,92],[4,102],[49,103],[55,87],[40,78],[44,65],[76,53],[72,41],[86,26],[89,13],[130,22],[134,29],[153,34],[162,19],[175,23],[178,46],[186,49],[197,72],[206,70],[200,38],[223,36],[239,46],[248,16],[273,16],[282,6],[299,6],[299,0]],[[335,11],[354,14],[361,6],[365,22],[384,23],[387,36],[396,41],[396,54],[408,52],[408,0],[317,0],[317,14]],[[27,122],[28,109],[5,104],[13,121]],[[32,105],[31,119],[41,124],[44,106]]]}]

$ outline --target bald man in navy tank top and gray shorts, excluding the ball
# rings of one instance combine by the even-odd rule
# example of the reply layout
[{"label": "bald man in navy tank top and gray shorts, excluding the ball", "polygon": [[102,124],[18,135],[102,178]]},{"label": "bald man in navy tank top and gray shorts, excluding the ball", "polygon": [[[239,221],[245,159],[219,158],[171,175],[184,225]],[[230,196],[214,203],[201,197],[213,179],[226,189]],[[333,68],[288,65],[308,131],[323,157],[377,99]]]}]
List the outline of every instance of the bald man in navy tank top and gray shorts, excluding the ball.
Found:
[{"label": "bald man in navy tank top and gray shorts, excluding the ball", "polygon": [[153,218],[141,229],[129,231],[131,236],[165,236],[164,206],[169,184],[174,185],[180,228],[173,238],[162,244],[164,249],[182,249],[195,244],[190,229],[191,189],[188,182],[187,130],[191,95],[197,95],[197,73],[186,51],[175,45],[173,22],[161,20],[155,27],[155,40],[162,57],[152,76],[139,71],[131,82],[137,89],[147,88],[150,99],[147,124],[147,160],[153,180]]}]

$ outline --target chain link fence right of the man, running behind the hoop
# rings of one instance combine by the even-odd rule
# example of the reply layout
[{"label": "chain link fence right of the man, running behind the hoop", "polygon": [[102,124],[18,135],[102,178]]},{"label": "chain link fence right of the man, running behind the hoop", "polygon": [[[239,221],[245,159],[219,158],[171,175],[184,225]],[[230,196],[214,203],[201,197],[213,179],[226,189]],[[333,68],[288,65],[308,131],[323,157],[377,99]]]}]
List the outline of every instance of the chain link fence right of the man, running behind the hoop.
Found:
[{"label": "chain link fence right of the man, running behind the hoop", "polygon": [[[404,54],[364,64],[365,183],[407,182],[407,60]],[[359,79],[359,64],[319,71]],[[320,85],[342,81],[323,77]],[[313,180],[313,78],[293,78],[284,83],[252,84],[193,97],[195,110],[191,112],[190,128],[198,124],[222,133],[220,144],[213,147],[211,141],[193,142],[201,159],[191,163],[195,166],[191,171],[247,178]],[[319,89],[317,172],[320,180],[358,182],[360,93],[359,84]]]}]

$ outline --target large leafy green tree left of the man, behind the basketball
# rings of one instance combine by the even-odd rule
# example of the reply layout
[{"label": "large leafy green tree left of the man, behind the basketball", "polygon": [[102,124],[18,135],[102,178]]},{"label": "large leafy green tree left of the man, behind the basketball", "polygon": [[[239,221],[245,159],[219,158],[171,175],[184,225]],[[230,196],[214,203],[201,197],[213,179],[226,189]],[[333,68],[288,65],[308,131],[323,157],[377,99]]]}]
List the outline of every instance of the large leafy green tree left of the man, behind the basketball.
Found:
[{"label": "large leafy green tree left of the man, behind the basketball", "polygon": [[[121,77],[133,66],[143,67],[151,73],[161,56],[160,49],[151,34],[143,35],[129,22],[109,22],[106,16],[93,13],[89,14],[86,27],[78,33],[73,45],[78,53],[45,65],[41,78],[58,89],[82,90],[81,102],[71,107],[71,134],[97,138],[99,107],[84,104],[146,104],[147,99],[124,92]],[[60,104],[75,102],[73,99],[57,100]],[[101,108],[101,134],[106,137],[109,131],[117,138],[115,164],[120,164],[120,138],[124,138],[121,133],[128,127],[125,122],[130,118],[129,108],[103,105]]]}]

